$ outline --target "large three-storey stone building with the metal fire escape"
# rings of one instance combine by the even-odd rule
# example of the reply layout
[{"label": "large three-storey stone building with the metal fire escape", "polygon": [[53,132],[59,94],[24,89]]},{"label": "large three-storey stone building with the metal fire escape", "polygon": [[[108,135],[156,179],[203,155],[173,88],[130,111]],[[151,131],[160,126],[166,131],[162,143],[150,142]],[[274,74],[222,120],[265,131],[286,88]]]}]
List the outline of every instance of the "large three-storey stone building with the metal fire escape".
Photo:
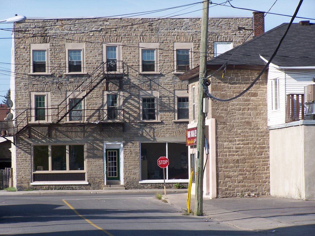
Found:
[{"label": "large three-storey stone building with the metal fire escape", "polygon": [[[210,18],[209,51],[250,39],[252,24],[252,17]],[[169,159],[167,188],[187,183],[188,82],[177,76],[198,65],[200,25],[199,18],[15,23],[14,186],[161,188],[160,156]]]}]

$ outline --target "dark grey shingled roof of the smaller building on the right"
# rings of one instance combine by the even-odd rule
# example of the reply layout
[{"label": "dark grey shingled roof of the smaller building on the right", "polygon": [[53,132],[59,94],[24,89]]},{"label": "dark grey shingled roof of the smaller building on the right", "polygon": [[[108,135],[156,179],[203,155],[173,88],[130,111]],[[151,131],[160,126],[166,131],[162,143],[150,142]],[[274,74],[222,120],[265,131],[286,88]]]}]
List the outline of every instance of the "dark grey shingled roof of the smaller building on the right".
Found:
[{"label": "dark grey shingled roof of the smaller building on the right", "polygon": [[[226,63],[227,68],[262,69],[277,48],[289,23],[283,23],[242,45],[232,48],[207,61],[208,69],[216,69]],[[282,42],[272,64],[278,66],[315,66],[315,24],[293,23]],[[198,74],[199,66],[179,76],[181,80]]]}]

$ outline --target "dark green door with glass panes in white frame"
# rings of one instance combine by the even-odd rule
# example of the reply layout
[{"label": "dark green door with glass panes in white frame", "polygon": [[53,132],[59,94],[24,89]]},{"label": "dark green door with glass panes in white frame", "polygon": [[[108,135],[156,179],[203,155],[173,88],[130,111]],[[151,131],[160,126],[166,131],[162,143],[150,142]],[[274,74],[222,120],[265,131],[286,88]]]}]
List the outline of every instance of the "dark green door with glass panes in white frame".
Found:
[{"label": "dark green door with glass panes in white frame", "polygon": [[106,149],[106,179],[119,180],[119,149]]}]

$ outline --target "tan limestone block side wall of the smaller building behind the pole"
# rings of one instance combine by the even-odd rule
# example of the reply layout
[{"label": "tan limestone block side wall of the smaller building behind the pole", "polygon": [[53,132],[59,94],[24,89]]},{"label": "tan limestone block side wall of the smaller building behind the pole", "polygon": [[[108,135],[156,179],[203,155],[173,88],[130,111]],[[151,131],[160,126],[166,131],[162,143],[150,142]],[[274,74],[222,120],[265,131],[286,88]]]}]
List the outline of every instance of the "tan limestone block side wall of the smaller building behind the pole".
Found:
[{"label": "tan limestone block side wall of the smaller building behind the pole", "polygon": [[[226,70],[211,80],[211,93],[232,98],[260,71]],[[229,102],[211,101],[211,117],[217,124],[217,194],[270,194],[269,132],[267,129],[266,73],[243,96]]]}]

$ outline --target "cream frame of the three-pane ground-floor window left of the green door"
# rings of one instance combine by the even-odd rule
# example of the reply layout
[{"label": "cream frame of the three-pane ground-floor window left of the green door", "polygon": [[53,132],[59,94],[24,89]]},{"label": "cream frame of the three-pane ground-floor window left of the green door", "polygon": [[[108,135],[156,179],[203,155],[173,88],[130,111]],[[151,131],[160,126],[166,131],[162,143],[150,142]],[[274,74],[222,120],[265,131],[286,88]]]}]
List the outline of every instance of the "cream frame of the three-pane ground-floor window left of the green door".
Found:
[{"label": "cream frame of the three-pane ground-floor window left of the green door", "polygon": [[[64,145],[64,146],[66,146],[66,163],[67,163],[67,170],[66,171],[53,171],[52,170],[52,166],[51,166],[51,146],[53,146],[53,145]],[[72,171],[70,171],[69,170],[69,146],[70,145],[83,145],[83,150],[84,150],[84,170],[72,170]],[[48,152],[49,152],[49,156],[48,156],[48,166],[49,166],[49,170],[48,171],[35,171],[34,170],[34,168],[35,168],[35,166],[34,166],[34,146],[48,146]],[[85,150],[85,145],[84,145],[84,143],[46,143],[46,144],[32,144],[31,145],[31,156],[32,156],[32,163],[33,163],[33,165],[32,165],[32,173],[33,174],[47,174],[47,173],[56,173],[56,174],[58,174],[58,173],[60,173],[60,174],[62,174],[62,173],[86,173],[87,171],[86,171],[86,168],[87,168],[87,164],[86,164],[86,150]],[[85,176],[85,178],[86,178],[86,176]],[[59,181],[58,181],[59,182]],[[63,182],[63,181],[61,181],[62,183],[65,183],[65,182],[70,182],[70,183],[72,183],[71,181],[65,181],[65,182]],[[79,183],[85,183],[86,181],[82,181],[82,182],[80,182],[80,181],[74,181],[74,182],[79,182]],[[43,182],[41,182],[41,181],[34,181],[33,183],[43,183]],[[47,181],[47,184],[51,184],[52,182],[51,181]]]}]

